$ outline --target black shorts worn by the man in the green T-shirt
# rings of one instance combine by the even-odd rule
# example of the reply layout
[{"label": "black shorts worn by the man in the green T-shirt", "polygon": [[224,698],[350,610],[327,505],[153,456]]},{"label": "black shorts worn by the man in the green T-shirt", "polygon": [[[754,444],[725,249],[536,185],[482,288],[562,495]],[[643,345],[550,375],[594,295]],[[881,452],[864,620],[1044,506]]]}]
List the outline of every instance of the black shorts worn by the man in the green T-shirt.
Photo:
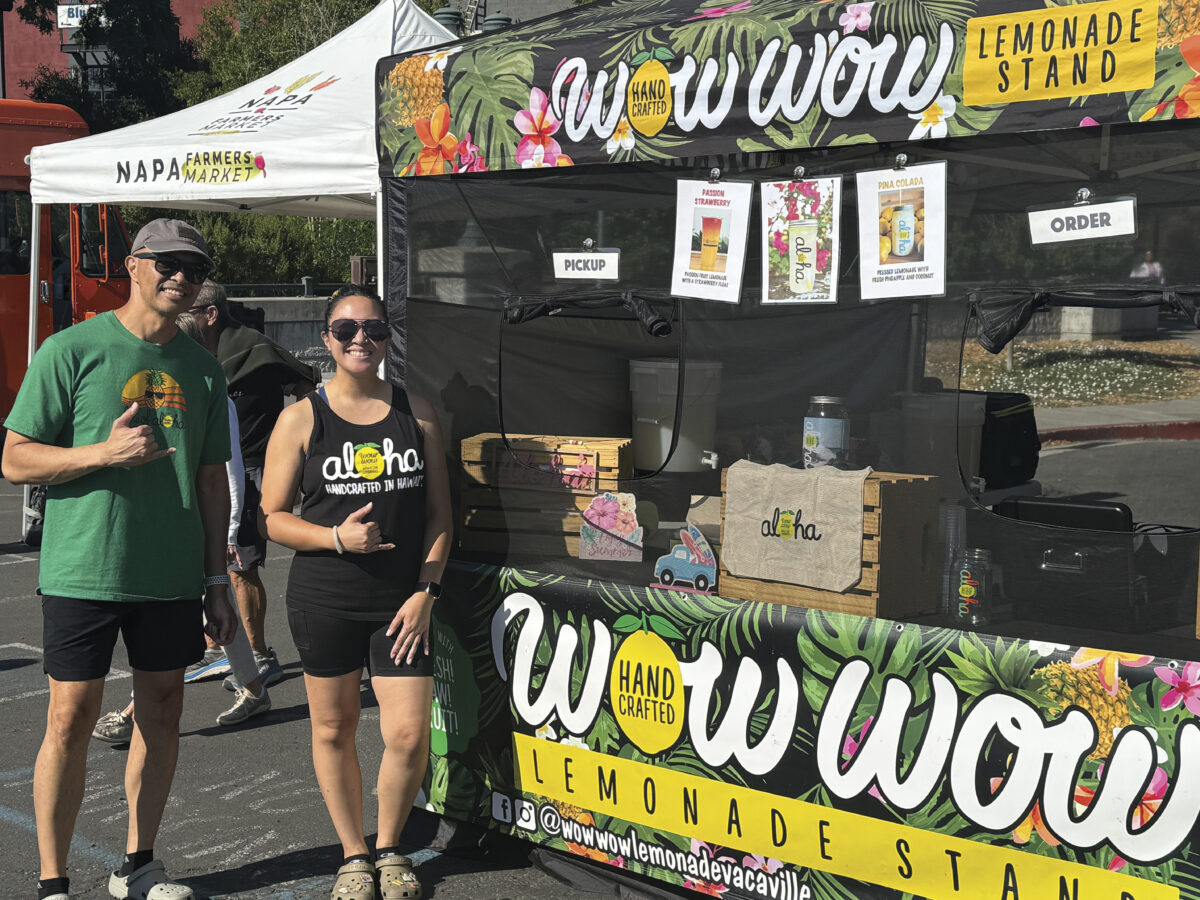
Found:
[{"label": "black shorts worn by the man in the green T-shirt", "polygon": [[58,682],[103,678],[118,631],[133,668],[186,668],[204,655],[204,606],[198,599],[124,602],[43,596],[42,668]]}]

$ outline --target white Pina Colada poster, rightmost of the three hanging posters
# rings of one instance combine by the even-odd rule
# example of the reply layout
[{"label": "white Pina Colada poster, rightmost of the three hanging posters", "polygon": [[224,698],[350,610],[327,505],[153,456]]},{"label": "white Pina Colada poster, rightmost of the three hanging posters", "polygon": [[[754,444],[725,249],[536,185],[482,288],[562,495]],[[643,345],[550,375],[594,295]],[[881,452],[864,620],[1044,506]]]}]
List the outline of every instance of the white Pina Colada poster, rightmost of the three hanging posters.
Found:
[{"label": "white Pina Colada poster, rightmost of the three hanging posters", "polygon": [[946,162],[858,173],[863,300],[946,294]]}]

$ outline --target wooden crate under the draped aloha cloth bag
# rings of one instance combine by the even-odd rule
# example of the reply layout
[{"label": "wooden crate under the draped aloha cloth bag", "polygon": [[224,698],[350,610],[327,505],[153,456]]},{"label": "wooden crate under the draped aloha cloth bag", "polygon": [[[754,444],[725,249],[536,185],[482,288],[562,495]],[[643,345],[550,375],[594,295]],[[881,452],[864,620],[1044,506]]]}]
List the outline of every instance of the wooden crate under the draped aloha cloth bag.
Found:
[{"label": "wooden crate under the draped aloha cloth bag", "polygon": [[[900,618],[934,612],[941,590],[937,488],[931,475],[872,472],[863,482],[863,572],[845,590],[743,578],[722,564],[718,593],[737,600]],[[721,475],[725,539],[725,475]]]}]

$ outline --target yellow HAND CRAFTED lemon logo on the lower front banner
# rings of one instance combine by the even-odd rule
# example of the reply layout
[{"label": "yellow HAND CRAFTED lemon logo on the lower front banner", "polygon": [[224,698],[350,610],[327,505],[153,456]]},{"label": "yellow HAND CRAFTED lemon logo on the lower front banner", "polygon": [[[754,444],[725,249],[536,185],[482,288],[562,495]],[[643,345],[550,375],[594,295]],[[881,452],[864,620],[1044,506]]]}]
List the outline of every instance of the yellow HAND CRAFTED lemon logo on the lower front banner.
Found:
[{"label": "yellow HAND CRAFTED lemon logo on the lower front banner", "polygon": [[[648,756],[673,745],[683,731],[683,677],[679,660],[667,642],[653,631],[643,631],[642,617],[623,616],[613,628],[631,630],[612,661],[608,692],[612,710],[625,737]],[[646,624],[671,637],[683,637],[661,616],[646,617]]]}]

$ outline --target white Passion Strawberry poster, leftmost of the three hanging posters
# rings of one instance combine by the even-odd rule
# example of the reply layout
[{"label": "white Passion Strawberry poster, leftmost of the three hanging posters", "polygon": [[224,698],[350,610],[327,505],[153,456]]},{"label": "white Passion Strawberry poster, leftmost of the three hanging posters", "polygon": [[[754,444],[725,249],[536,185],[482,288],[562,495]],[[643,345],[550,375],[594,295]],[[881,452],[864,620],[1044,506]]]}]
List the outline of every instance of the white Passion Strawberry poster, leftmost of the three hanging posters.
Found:
[{"label": "white Passion Strawberry poster, leftmost of the three hanging posters", "polygon": [[672,294],[740,300],[752,193],[749,182],[678,182]]}]

